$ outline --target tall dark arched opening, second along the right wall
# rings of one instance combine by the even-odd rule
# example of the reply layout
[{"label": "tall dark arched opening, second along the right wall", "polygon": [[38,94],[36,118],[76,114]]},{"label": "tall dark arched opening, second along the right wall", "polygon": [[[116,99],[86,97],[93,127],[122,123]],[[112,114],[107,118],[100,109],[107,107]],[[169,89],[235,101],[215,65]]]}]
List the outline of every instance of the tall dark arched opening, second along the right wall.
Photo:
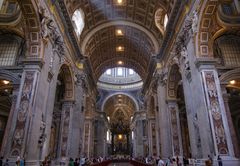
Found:
[{"label": "tall dark arched opening, second along the right wall", "polygon": [[[182,148],[183,156],[187,158],[191,158],[191,147],[190,147],[190,139],[189,139],[189,129],[188,129],[188,120],[187,120],[187,112],[185,106],[185,96],[184,96],[184,89],[182,85],[182,76],[179,72],[179,67],[174,64],[171,67],[170,75],[169,75],[169,82],[168,82],[168,96],[171,100],[175,101],[176,108],[172,108],[175,112],[178,112],[178,115],[172,113],[172,130],[173,133],[180,133],[181,134],[181,141],[179,142],[179,136],[173,134],[173,146],[175,146],[174,153],[175,155],[180,154],[180,148]],[[176,111],[178,110],[178,111]],[[179,117],[179,120],[178,120]],[[177,124],[179,121],[179,125]],[[178,132],[180,129],[180,132]],[[179,144],[179,145],[177,145]],[[182,146],[180,146],[182,145]]]}]

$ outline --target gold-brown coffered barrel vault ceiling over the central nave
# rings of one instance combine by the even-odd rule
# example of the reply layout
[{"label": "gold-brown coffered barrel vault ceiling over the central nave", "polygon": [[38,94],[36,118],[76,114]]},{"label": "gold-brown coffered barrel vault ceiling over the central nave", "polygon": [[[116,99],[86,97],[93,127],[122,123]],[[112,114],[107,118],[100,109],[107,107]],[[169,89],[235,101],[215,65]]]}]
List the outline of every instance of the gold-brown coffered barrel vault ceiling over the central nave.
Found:
[{"label": "gold-brown coffered barrel vault ceiling over the central nave", "polygon": [[[123,61],[124,67],[133,68],[146,78],[152,55],[159,52],[163,34],[155,25],[155,12],[162,8],[170,13],[173,0],[69,0],[66,6],[70,15],[81,9],[85,27],[80,36],[84,56],[90,60],[98,79],[111,67]],[[121,29],[123,36],[117,36]],[[124,51],[117,52],[122,46]]]}]

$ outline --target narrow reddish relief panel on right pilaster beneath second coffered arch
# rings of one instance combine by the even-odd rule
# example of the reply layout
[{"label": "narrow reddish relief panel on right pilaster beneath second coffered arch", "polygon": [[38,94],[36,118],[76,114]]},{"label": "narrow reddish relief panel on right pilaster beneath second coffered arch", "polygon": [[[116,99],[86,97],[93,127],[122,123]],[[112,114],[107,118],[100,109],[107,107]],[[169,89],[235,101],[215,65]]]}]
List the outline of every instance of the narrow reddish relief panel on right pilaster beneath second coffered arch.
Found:
[{"label": "narrow reddish relief panel on right pilaster beneath second coffered arch", "polygon": [[179,137],[178,137],[178,125],[177,125],[177,111],[175,107],[170,108],[171,124],[172,124],[172,146],[174,155],[180,155]]}]

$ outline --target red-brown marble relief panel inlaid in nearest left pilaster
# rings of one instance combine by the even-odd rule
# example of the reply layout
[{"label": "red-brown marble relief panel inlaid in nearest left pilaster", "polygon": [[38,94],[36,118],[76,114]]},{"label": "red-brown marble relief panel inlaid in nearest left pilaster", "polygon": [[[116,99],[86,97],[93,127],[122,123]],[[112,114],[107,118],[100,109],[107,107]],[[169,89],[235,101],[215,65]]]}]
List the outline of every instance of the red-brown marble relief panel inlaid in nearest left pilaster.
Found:
[{"label": "red-brown marble relief panel inlaid in nearest left pilaster", "polygon": [[17,115],[17,124],[14,131],[13,142],[12,142],[12,156],[20,155],[22,144],[24,141],[25,123],[27,114],[29,111],[30,100],[32,96],[33,81],[34,81],[34,71],[27,71],[25,75],[25,80],[22,89],[22,96],[20,99],[20,105]]}]

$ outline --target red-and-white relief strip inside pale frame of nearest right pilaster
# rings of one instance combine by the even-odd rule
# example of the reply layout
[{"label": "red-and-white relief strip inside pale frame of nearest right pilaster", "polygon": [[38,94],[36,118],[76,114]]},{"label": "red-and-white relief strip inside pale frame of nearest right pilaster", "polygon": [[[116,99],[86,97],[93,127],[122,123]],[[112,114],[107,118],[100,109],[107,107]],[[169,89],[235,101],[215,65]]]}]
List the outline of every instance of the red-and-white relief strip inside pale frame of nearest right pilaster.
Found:
[{"label": "red-and-white relief strip inside pale frame of nearest right pilaster", "polygon": [[219,104],[219,96],[217,93],[216,82],[214,79],[214,72],[205,71],[204,75],[206,80],[206,88],[208,92],[207,95],[209,100],[209,110],[211,111],[212,115],[217,149],[219,154],[226,155],[229,153],[229,151]]}]

